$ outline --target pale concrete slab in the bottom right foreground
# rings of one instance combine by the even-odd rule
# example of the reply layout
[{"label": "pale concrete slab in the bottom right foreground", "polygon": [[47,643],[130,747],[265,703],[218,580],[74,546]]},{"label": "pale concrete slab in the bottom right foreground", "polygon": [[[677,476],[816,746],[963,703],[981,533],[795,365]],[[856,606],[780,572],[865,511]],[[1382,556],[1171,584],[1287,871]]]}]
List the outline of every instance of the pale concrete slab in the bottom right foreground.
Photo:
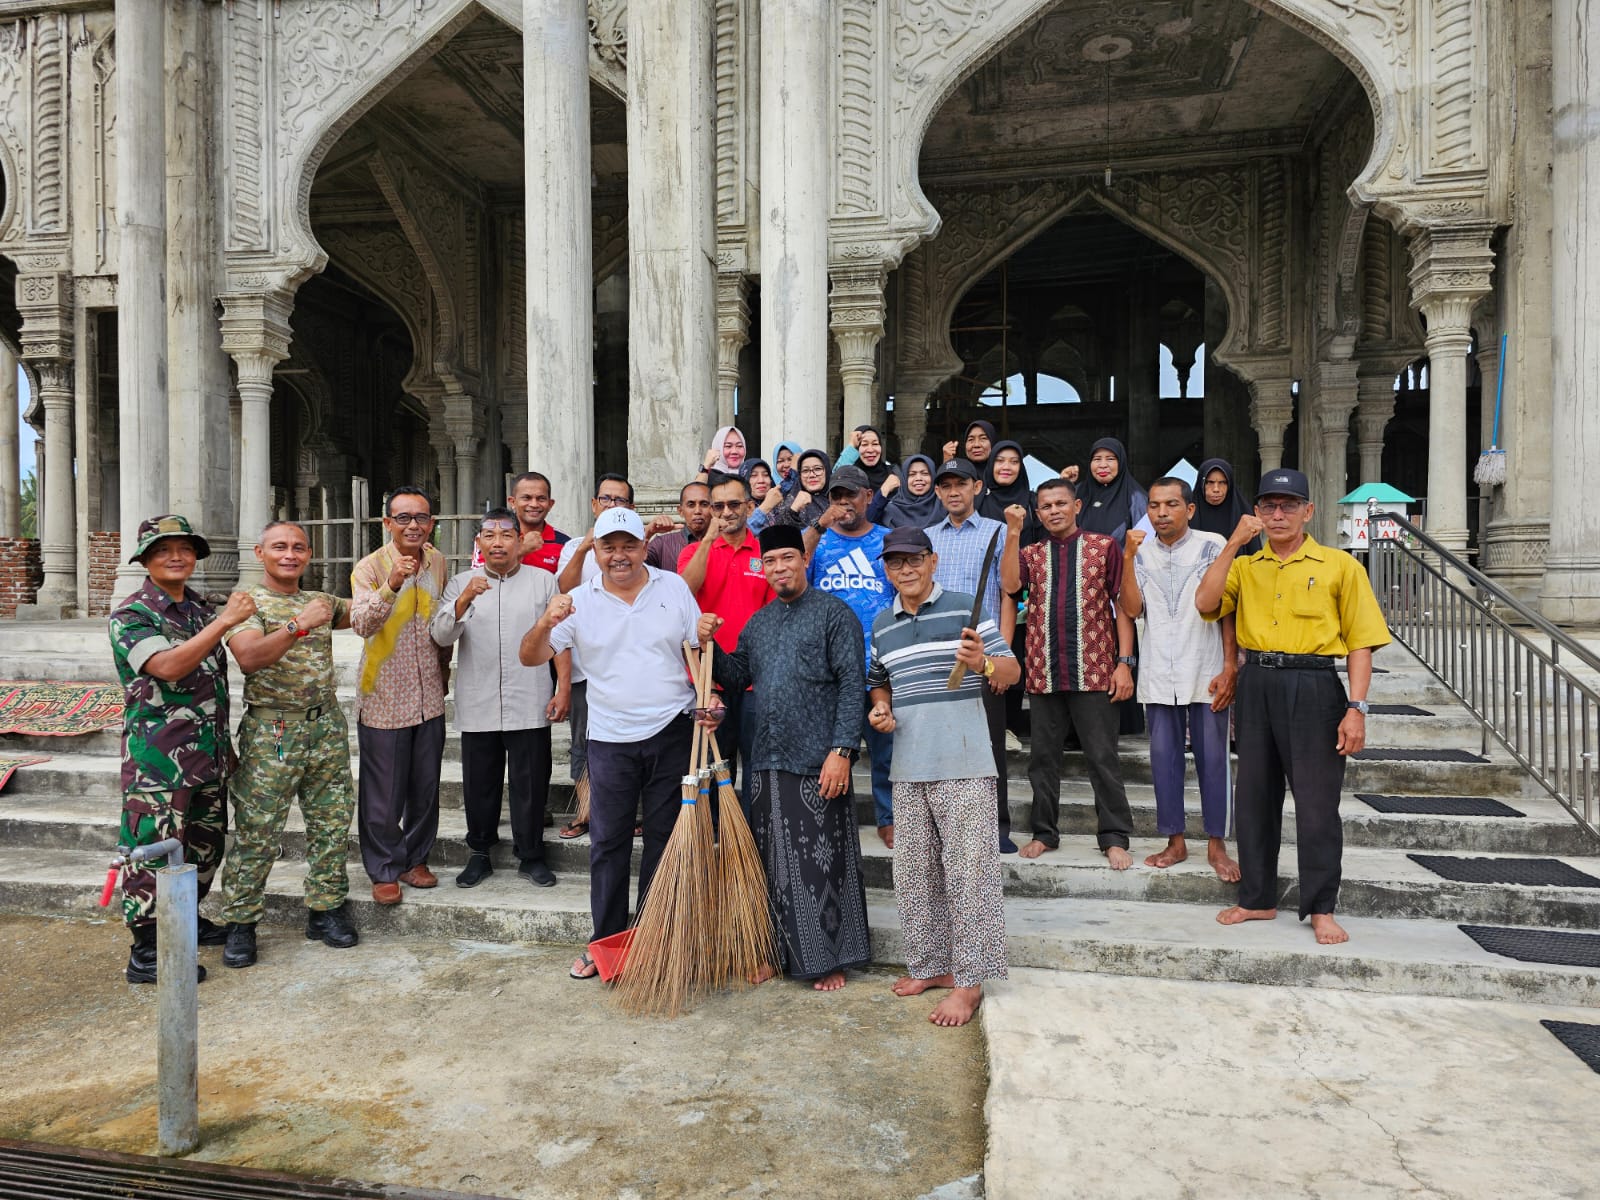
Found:
[{"label": "pale concrete slab in the bottom right foreground", "polygon": [[[1280,922],[1282,923],[1282,922]],[[1594,1200],[1595,1010],[1016,970],[989,1200]]]}]

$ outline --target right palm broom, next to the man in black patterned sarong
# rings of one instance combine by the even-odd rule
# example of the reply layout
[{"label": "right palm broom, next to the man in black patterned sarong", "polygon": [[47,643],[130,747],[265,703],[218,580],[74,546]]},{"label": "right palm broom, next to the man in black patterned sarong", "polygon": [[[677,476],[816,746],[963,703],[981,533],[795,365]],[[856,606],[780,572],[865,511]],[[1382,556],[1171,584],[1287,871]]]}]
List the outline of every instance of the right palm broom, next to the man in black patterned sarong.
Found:
[{"label": "right palm broom, next to the man in black patterned sarong", "polygon": [[[710,678],[715,650],[701,648],[704,675]],[[733,790],[733,773],[717,746],[717,734],[707,733],[712,776],[717,781],[717,978],[734,986],[754,981],[778,962],[778,938],[773,933],[771,899],[766,893],[766,870],[755,846],[750,822]],[[750,765],[746,763],[749,771]]]}]

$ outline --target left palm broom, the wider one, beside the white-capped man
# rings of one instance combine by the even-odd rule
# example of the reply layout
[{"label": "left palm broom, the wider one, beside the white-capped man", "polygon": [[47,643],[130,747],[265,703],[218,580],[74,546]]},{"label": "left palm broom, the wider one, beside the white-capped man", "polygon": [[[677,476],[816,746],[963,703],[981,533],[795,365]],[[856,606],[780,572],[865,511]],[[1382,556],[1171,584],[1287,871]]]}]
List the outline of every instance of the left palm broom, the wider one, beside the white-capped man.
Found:
[{"label": "left palm broom, the wider one, beside the white-capped man", "polygon": [[712,963],[704,949],[715,898],[715,845],[710,821],[694,811],[704,750],[706,731],[696,725],[678,819],[634,920],[627,966],[616,989],[630,1013],[677,1016],[685,1002],[710,990]]}]

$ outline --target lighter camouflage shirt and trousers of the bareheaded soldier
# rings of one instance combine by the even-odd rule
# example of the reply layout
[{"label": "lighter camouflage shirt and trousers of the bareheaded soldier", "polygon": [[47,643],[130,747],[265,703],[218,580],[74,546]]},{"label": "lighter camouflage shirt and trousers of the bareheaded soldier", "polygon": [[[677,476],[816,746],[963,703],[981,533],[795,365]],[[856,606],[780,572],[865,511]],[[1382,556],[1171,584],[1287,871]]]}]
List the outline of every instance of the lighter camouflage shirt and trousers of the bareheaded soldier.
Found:
[{"label": "lighter camouflage shirt and trousers of the bareheaded soldier", "polygon": [[[267,872],[296,797],[306,818],[306,907],[325,912],[344,904],[350,890],[344,861],[355,811],[350,734],[333,685],[333,626],[349,616],[350,602],[325,592],[283,595],[261,586],[250,589],[250,597],[256,614],[230,629],[227,640],[246,629],[277,630],[312,600],[328,603],[333,622],[296,638],[270,667],[245,675],[238,770],[229,786],[234,845],[222,870],[222,920],[238,925],[261,920]],[[322,712],[307,718],[315,709]]]}]

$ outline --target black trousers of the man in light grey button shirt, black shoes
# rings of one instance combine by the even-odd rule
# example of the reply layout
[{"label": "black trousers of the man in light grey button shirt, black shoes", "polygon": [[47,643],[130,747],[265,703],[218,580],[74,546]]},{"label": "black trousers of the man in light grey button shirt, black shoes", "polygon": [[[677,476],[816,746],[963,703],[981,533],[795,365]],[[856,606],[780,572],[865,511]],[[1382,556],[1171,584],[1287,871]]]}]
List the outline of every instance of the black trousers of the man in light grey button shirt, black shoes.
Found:
[{"label": "black trousers of the man in light grey button shirt, black shoes", "polygon": [[510,843],[523,862],[544,859],[544,805],[550,798],[550,730],[461,734],[461,792],[467,850],[499,842],[501,789],[510,773]]}]

